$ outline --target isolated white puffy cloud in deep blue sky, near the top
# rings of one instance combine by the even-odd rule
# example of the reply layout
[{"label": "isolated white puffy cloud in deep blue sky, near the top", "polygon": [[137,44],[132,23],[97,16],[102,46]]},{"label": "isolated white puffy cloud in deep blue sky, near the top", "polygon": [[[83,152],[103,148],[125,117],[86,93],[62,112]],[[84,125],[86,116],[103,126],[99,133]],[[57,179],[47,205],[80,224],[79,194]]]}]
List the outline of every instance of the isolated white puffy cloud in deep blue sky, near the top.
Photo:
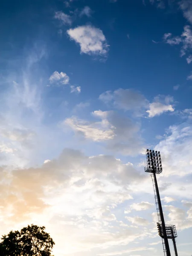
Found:
[{"label": "isolated white puffy cloud in deep blue sky, near the top", "polygon": [[101,29],[94,26],[78,26],[67,30],[67,34],[80,45],[81,53],[106,56],[108,44]]}]

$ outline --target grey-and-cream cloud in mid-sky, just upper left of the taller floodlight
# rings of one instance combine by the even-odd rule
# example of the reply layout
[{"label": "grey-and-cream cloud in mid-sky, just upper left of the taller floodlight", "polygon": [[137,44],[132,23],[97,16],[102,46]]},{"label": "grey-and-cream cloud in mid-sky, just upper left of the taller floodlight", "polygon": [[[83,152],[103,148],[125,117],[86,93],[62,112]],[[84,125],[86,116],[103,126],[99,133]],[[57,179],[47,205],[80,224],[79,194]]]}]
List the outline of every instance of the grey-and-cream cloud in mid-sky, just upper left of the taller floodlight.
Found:
[{"label": "grey-and-cream cloud in mid-sky, just upper left of the taller floodlight", "polygon": [[93,141],[105,142],[110,151],[134,155],[142,150],[143,140],[139,135],[140,126],[131,119],[119,116],[113,111],[94,111],[101,121],[85,121],[75,116],[64,121],[76,134]]}]

